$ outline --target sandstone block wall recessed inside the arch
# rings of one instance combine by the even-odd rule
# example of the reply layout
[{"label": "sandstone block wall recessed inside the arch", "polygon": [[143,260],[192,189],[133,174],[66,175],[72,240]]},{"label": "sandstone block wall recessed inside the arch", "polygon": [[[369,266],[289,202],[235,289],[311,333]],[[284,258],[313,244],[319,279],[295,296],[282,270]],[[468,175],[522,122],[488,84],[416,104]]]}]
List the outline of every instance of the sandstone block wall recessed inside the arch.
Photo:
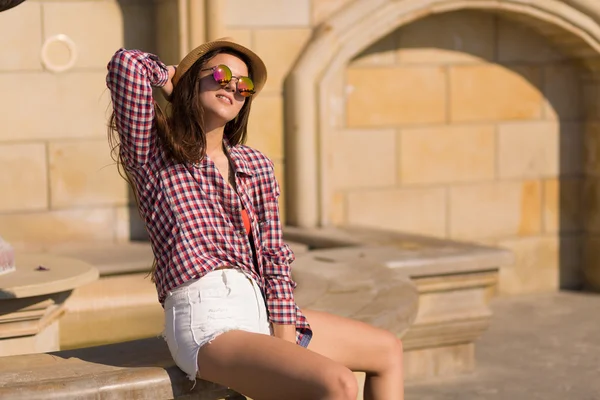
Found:
[{"label": "sandstone block wall recessed inside the arch", "polygon": [[507,247],[505,293],[579,286],[584,74],[492,13],[398,29],[347,68],[332,220]]}]

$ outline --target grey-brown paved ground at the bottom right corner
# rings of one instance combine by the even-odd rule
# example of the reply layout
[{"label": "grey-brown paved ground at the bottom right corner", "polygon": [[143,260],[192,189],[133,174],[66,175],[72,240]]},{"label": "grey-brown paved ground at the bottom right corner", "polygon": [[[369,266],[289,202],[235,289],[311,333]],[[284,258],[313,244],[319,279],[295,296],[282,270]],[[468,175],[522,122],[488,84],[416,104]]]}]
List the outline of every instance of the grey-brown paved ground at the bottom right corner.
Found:
[{"label": "grey-brown paved ground at the bottom right corner", "polygon": [[600,400],[600,295],[497,299],[477,370],[409,384],[406,400]]}]

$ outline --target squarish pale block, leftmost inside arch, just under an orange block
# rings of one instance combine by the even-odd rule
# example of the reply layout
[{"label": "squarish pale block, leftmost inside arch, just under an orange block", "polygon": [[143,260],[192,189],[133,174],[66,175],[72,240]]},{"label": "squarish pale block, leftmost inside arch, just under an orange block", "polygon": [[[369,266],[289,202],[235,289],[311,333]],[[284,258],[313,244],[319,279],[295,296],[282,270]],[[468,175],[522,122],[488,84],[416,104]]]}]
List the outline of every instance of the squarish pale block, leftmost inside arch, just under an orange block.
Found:
[{"label": "squarish pale block, leftmost inside arch, just under an orange block", "polygon": [[394,130],[343,130],[333,134],[328,164],[335,189],[391,187],[396,183]]}]

